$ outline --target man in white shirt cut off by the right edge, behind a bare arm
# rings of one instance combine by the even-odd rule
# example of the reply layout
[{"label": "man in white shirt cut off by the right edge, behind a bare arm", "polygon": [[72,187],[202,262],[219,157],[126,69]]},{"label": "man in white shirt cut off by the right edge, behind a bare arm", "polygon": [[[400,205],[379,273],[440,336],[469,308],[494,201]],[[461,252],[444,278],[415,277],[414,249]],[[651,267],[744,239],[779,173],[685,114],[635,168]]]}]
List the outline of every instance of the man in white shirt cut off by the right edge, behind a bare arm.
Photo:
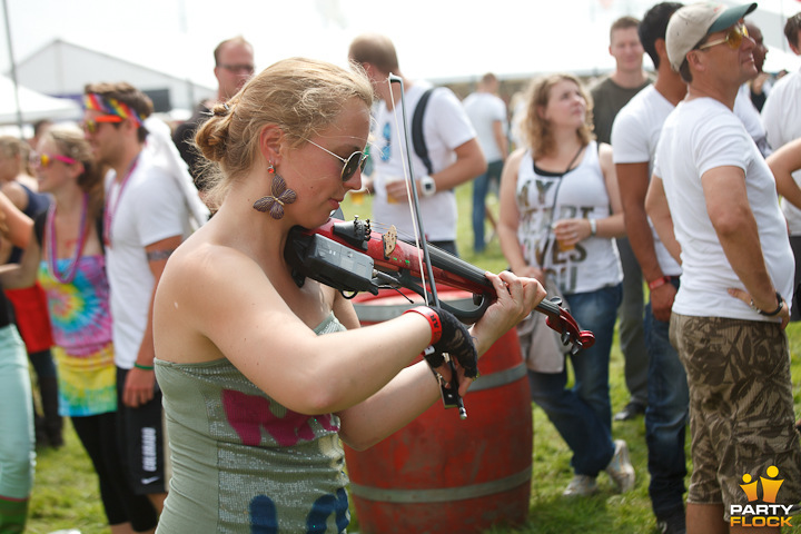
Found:
[{"label": "man in white shirt cut off by the right edge, behind a bare arm", "polygon": [[[801,12],[790,17],[784,24],[790,49],[801,56]],[[777,81],[762,108],[762,125],[764,126],[770,146],[778,150],[782,146],[801,137],[801,70],[790,72]],[[793,172],[795,184],[801,184],[801,170]],[[781,187],[781,184],[777,184]],[[793,287],[801,284],[801,206],[789,201],[792,195],[780,189],[781,206],[790,227],[790,246],[795,257],[795,276]],[[793,307],[790,320],[801,320],[801,310]]]}]

